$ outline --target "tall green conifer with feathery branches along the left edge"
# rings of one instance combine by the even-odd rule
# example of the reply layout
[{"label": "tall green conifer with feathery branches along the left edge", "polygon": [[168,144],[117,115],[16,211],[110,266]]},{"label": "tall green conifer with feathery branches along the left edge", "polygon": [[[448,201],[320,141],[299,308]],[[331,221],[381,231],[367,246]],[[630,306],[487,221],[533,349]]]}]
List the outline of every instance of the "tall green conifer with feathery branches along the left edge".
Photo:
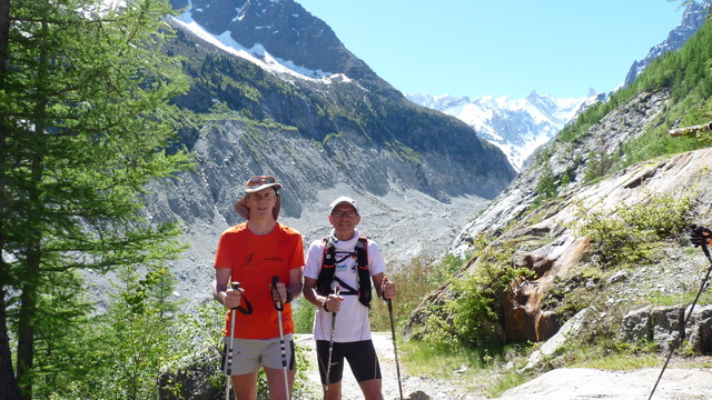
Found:
[{"label": "tall green conifer with feathery branches along the left edge", "polygon": [[141,217],[141,196],[188,167],[162,150],[186,81],[159,51],[165,0],[0,3],[0,397],[31,399],[36,327],[65,316],[47,301],[56,278],[180,249],[175,226]]}]

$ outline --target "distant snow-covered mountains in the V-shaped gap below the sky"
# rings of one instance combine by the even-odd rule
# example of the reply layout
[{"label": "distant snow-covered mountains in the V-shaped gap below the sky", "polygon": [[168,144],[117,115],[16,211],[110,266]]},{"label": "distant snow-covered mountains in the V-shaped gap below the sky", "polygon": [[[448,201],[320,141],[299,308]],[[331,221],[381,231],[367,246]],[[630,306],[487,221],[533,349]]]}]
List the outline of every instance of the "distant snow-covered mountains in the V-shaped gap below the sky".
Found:
[{"label": "distant snow-covered mountains in the V-shaped gap below the sky", "polygon": [[[449,94],[433,96],[405,93],[408,100],[456,117],[472,127],[477,136],[498,147],[518,171],[524,161],[542,144],[552,139],[584,104],[600,99],[591,91],[589,97],[556,99],[535,91],[525,99],[494,98],[475,100]],[[594,100],[594,101],[592,101]]]}]

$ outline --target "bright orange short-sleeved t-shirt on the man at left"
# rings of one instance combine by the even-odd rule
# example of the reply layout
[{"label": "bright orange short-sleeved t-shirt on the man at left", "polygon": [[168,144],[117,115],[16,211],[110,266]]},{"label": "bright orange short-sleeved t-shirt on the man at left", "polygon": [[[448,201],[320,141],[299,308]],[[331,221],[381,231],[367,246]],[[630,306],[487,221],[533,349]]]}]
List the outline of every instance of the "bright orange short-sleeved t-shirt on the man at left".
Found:
[{"label": "bright orange short-sleeved t-shirt on the man at left", "polygon": [[[268,234],[254,234],[247,223],[229,228],[220,236],[214,268],[230,269],[230,281],[240,282],[245,289],[240,306],[247,309],[245,299],[253,306],[251,314],[235,311],[235,338],[273,339],[279,337],[277,309],[271,301],[271,277],[289,286],[289,271],[304,267],[301,234],[279,222]],[[228,283],[229,284],[229,283]],[[225,323],[229,336],[230,313]],[[281,312],[284,334],[294,333],[291,304],[284,304]]]}]

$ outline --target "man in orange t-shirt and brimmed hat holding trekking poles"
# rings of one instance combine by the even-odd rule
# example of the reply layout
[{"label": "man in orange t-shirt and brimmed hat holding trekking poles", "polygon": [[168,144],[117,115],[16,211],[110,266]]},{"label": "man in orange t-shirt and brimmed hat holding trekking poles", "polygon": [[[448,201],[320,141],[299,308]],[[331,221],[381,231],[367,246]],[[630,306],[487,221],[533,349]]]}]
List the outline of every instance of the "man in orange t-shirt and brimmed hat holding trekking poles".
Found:
[{"label": "man in orange t-shirt and brimmed hat holding trekking poles", "polygon": [[[245,196],[235,203],[236,211],[247,221],[220,236],[215,257],[212,296],[230,309],[224,334],[226,348],[227,344],[233,348],[226,360],[231,359],[229,373],[238,400],[257,397],[260,366],[271,400],[291,398],[294,387],[290,301],[301,291],[304,247],[298,231],[277,222],[279,189],[281,184],[274,177],[259,176],[247,181]],[[273,277],[279,277],[278,283],[274,284]],[[239,282],[239,289],[233,289],[229,282]]]}]

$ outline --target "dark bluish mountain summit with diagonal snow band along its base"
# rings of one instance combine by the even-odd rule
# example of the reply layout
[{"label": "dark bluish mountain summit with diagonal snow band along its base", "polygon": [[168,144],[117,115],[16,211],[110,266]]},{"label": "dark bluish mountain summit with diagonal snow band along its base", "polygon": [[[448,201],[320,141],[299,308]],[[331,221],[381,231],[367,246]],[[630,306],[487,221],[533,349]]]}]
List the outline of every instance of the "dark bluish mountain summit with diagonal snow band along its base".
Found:
[{"label": "dark bluish mountain summit with diagonal snow band along its base", "polygon": [[[397,93],[320,19],[294,0],[170,0],[175,20],[202,40],[261,69],[322,83],[358,81]],[[288,77],[288,76],[291,76]]]}]

